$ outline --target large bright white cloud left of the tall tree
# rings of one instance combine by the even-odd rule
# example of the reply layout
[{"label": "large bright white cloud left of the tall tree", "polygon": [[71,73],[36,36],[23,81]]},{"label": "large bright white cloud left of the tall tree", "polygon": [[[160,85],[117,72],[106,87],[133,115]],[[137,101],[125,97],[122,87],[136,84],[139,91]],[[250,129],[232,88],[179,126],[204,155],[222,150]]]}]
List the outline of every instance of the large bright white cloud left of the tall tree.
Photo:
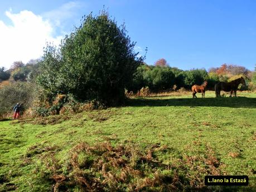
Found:
[{"label": "large bright white cloud left of the tall tree", "polygon": [[46,42],[59,45],[61,36],[54,37],[54,27],[49,20],[31,11],[12,13],[6,11],[12,25],[0,20],[0,66],[9,68],[14,61],[28,62],[43,55]]}]

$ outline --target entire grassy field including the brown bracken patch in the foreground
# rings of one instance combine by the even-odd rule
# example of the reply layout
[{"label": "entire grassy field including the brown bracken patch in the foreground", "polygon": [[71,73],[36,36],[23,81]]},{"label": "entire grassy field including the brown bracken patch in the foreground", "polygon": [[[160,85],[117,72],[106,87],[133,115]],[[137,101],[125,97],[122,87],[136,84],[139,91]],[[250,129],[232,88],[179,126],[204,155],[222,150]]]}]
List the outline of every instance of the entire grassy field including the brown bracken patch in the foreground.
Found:
[{"label": "entire grassy field including the brown bracken patch in the foreground", "polygon": [[[0,191],[256,191],[256,94],[191,96],[0,121]],[[205,175],[249,186],[206,187]]]}]

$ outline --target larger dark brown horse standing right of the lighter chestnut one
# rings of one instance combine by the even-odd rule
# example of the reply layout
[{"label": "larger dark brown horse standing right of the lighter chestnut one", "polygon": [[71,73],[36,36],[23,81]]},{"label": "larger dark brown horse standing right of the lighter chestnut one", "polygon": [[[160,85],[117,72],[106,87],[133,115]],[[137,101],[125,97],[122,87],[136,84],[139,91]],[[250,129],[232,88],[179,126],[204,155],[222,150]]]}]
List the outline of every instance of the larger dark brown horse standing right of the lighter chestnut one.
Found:
[{"label": "larger dark brown horse standing right of the lighter chestnut one", "polygon": [[230,97],[233,94],[233,91],[235,92],[235,97],[236,97],[236,90],[238,90],[238,85],[242,83],[243,85],[245,85],[245,80],[243,77],[237,78],[234,81],[231,82],[219,82],[215,84],[215,95],[216,97],[220,97],[220,91],[226,91],[229,92],[230,91]]}]

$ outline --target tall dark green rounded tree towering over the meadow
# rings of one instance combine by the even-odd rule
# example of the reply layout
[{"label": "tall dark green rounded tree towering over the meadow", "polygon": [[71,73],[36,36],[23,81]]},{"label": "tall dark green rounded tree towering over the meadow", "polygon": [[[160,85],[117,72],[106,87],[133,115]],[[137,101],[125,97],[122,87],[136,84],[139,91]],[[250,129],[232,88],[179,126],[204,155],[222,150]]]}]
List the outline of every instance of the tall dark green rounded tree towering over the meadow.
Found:
[{"label": "tall dark green rounded tree towering over the meadow", "polygon": [[119,104],[143,60],[134,45],[125,27],[118,27],[108,13],[89,14],[60,49],[46,47],[37,82],[52,95],[72,93],[80,100]]}]

